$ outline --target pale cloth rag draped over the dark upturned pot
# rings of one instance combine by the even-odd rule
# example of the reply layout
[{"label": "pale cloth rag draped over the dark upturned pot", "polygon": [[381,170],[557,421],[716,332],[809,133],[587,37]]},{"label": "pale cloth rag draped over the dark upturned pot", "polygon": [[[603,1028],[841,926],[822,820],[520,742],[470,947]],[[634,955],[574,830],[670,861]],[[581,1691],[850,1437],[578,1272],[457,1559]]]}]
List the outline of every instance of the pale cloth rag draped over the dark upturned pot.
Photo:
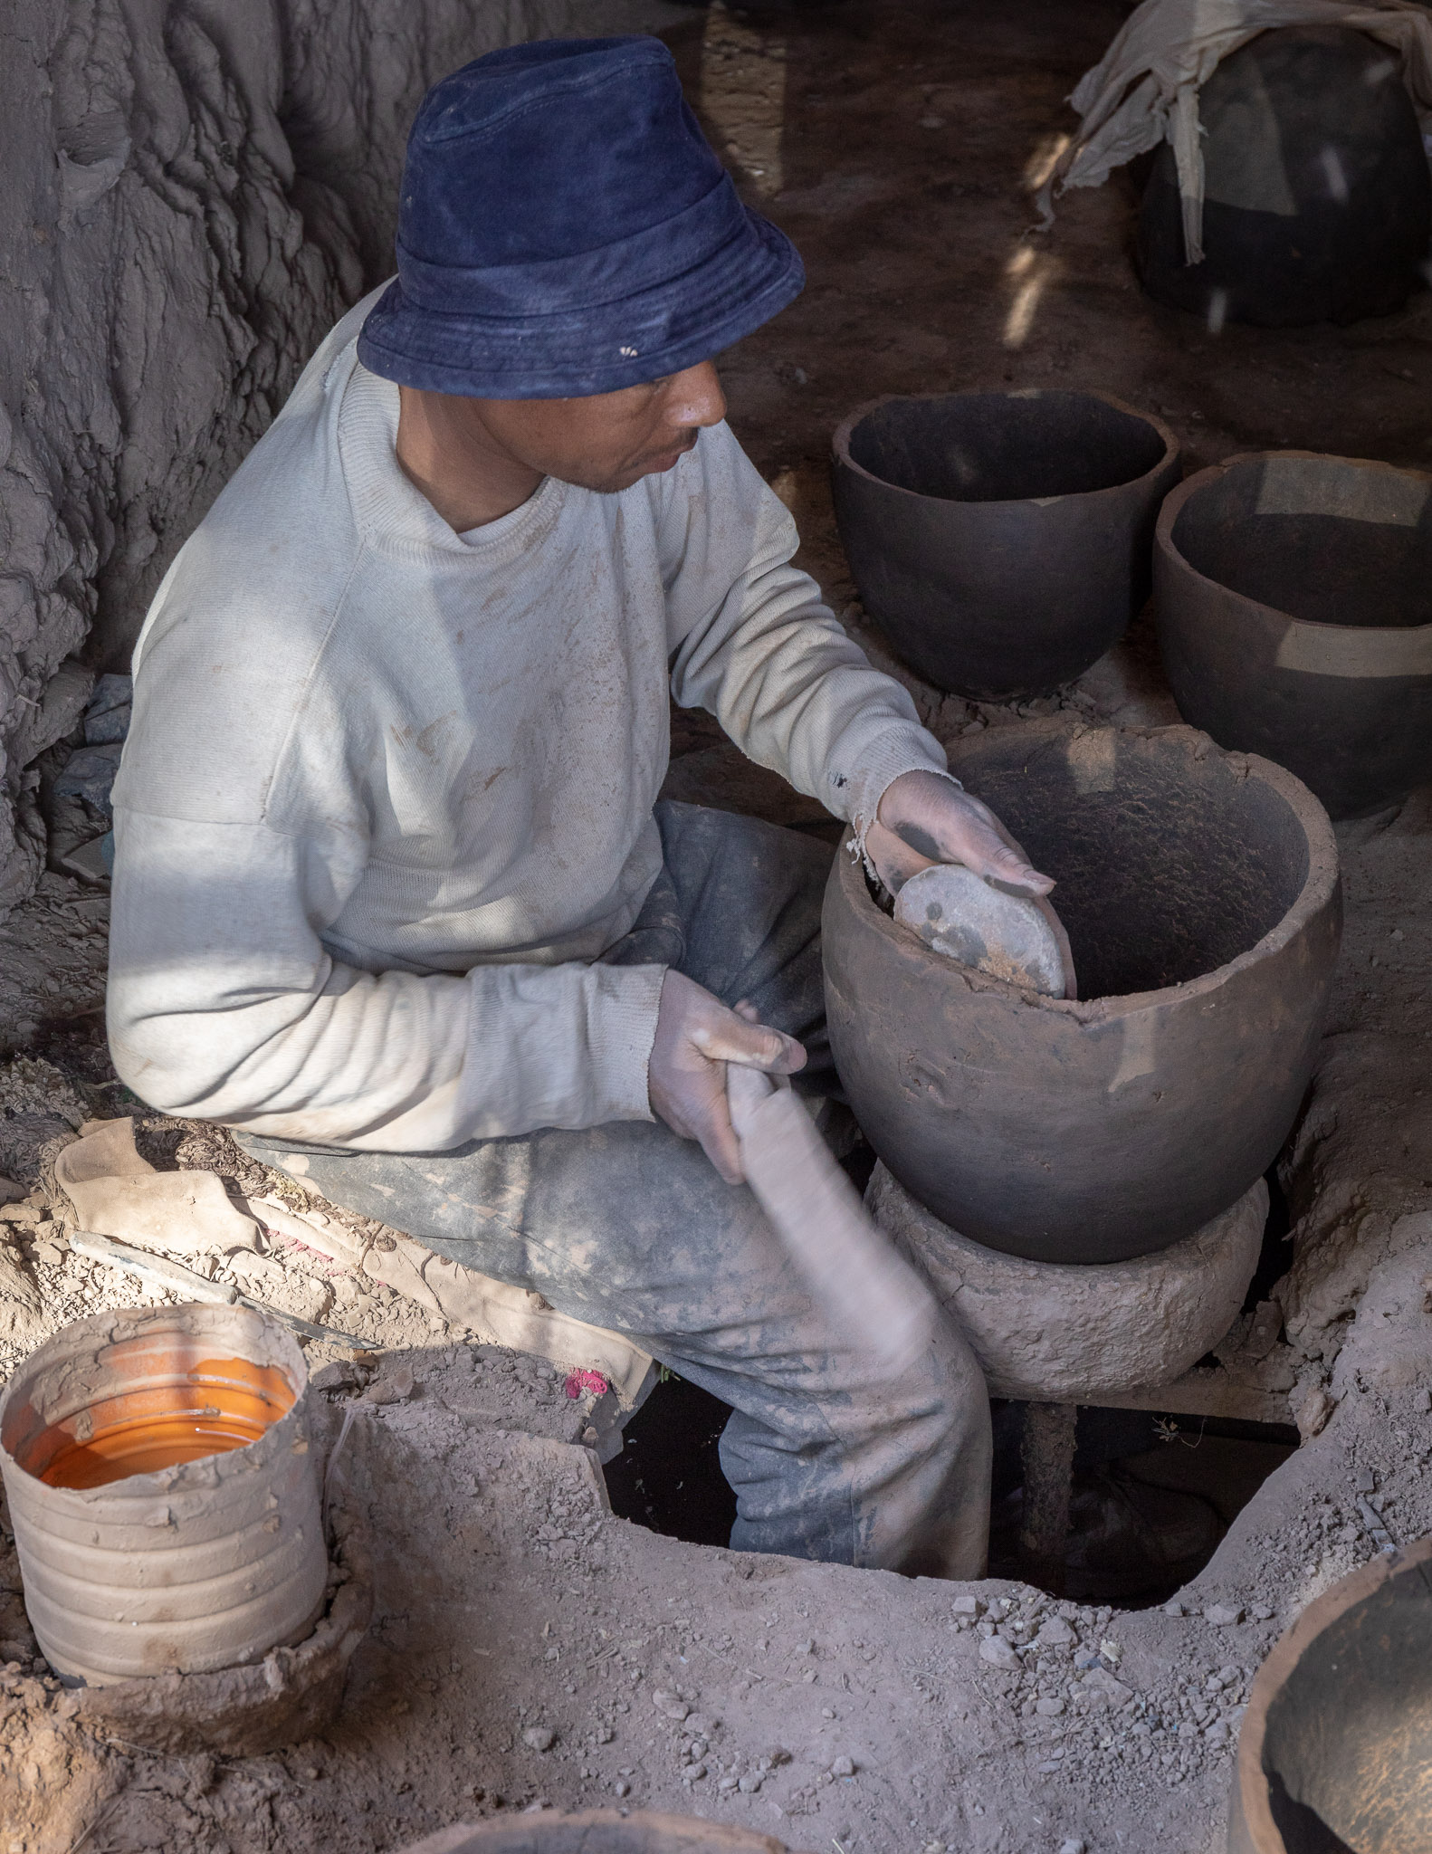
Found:
[{"label": "pale cloth rag draped over the dark upturned pot", "polygon": [[1102,187],[1115,167],[1174,145],[1183,254],[1204,258],[1204,152],[1198,91],[1230,52],[1276,26],[1352,26],[1397,52],[1402,82],[1432,130],[1432,13],[1417,0],[1143,0],[1068,98],[1080,132],[1039,189],[1041,228],[1065,187]]}]

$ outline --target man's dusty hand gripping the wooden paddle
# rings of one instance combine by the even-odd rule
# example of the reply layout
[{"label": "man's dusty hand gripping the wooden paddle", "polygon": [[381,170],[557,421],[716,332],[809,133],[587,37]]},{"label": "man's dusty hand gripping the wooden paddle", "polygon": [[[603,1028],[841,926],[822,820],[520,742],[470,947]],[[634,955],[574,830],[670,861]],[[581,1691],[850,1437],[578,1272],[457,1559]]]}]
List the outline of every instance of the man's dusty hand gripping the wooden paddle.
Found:
[{"label": "man's dusty hand gripping the wooden paddle", "polygon": [[805,1049],[668,968],[647,1064],[651,1112],[683,1140],[699,1140],[727,1185],[740,1185],[746,1174],[725,1105],[727,1062],[794,1075],[805,1068]]}]

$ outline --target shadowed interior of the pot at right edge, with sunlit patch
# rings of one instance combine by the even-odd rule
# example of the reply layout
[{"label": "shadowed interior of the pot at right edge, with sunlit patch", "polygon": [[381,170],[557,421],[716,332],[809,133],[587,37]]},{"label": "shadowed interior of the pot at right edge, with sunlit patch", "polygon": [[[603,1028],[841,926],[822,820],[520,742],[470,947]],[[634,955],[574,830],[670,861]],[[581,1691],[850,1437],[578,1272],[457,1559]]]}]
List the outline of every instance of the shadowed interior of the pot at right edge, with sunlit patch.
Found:
[{"label": "shadowed interior of the pot at right edge, with sunlit patch", "polygon": [[1330,467],[1337,462],[1289,458],[1272,473],[1226,471],[1183,504],[1174,547],[1206,578],[1289,617],[1430,625],[1432,495],[1423,489],[1421,510],[1404,508],[1397,519],[1369,506],[1387,493],[1391,473]]}]

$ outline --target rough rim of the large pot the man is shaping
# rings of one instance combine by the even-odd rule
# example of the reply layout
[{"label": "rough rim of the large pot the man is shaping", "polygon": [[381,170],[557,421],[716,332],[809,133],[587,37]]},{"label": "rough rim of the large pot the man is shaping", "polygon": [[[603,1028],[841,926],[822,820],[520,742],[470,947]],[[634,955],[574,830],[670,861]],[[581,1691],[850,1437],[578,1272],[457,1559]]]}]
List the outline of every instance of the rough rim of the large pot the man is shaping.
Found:
[{"label": "rough rim of the large pot the man is shaping", "polygon": [[[1002,996],[1018,999],[1020,1005],[1033,1007],[1035,1010],[1068,1018],[1076,1027],[1106,1023],[1113,1018],[1132,1016],[1135,1010],[1163,1010],[1170,1005],[1183,1005],[1195,997],[1206,996],[1208,992],[1215,992],[1235,973],[1247,971],[1256,962],[1282,951],[1291,940],[1297,938],[1297,934],[1302,933],[1308,921],[1311,921],[1326,907],[1337,888],[1337,838],[1334,836],[1328,814],[1308,786],[1304,786],[1304,782],[1284,766],[1278,766],[1276,760],[1265,760],[1258,753],[1232,753],[1219,747],[1209,734],[1200,732],[1196,727],[1187,727],[1185,723],[1174,723],[1172,727],[1070,729],[1057,717],[1050,716],[1042,721],[1028,721],[1016,727],[1000,729],[1000,732],[1029,742],[1055,742],[1065,738],[1076,740],[1083,734],[1124,734],[1132,740],[1157,740],[1161,736],[1178,734],[1183,736],[1183,745],[1189,751],[1196,742],[1206,742],[1206,749],[1200,758],[1215,753],[1222,760],[1241,760],[1247,764],[1250,779],[1261,779],[1263,784],[1272,786],[1278,797],[1284,799],[1302,825],[1308,840],[1308,875],[1304,877],[1302,888],[1293,899],[1293,905],[1276,927],[1271,927],[1261,940],[1256,940],[1254,946],[1250,946],[1245,953],[1239,953],[1237,959],[1230,959],[1226,964],[1215,966],[1213,971],[1202,971],[1196,979],[1185,979],[1182,984],[1165,984],[1156,992],[1111,992],[1106,997],[1072,999],[1046,997],[1042,992],[1024,990],[1009,979],[996,979],[992,973],[976,971],[972,966],[961,966],[957,960],[946,959],[942,953],[933,953],[920,938],[916,938],[916,934],[909,933],[905,927],[898,927],[889,914],[876,907],[866,886],[864,866],[846,855],[838,857],[840,886],[850,907],[857,912],[857,916],[868,920],[876,927],[876,933],[883,934],[900,957],[924,964],[931,983],[935,984],[942,984],[946,988],[963,986],[966,992],[992,992],[996,997]],[[952,768],[952,771],[959,775],[957,766]],[[1055,888],[1055,907],[1057,895],[1059,890]]]}]

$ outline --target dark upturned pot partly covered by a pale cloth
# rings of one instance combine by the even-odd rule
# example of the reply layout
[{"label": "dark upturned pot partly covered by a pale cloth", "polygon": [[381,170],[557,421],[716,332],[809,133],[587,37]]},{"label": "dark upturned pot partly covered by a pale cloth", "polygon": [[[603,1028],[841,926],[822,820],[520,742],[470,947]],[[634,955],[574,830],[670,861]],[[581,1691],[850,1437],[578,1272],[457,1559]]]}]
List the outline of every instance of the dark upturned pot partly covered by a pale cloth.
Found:
[{"label": "dark upturned pot partly covered by a pale cloth", "polygon": [[1174,150],[1139,211],[1159,302],[1289,328],[1400,310],[1432,230],[1432,184],[1397,54],[1345,26],[1259,33],[1198,93],[1204,260],[1183,250]]}]

